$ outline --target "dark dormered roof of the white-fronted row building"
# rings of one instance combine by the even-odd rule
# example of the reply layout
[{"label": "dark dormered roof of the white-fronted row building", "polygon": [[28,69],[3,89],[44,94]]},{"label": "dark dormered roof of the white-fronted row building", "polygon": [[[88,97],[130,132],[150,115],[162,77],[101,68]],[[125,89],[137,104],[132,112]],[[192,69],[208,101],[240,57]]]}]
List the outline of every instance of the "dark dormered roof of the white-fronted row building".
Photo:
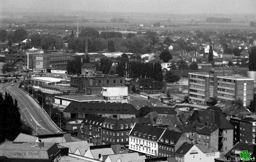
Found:
[{"label": "dark dormered roof of the white-fronted row building", "polygon": [[165,129],[136,123],[130,136],[137,136],[148,140],[157,141]]}]

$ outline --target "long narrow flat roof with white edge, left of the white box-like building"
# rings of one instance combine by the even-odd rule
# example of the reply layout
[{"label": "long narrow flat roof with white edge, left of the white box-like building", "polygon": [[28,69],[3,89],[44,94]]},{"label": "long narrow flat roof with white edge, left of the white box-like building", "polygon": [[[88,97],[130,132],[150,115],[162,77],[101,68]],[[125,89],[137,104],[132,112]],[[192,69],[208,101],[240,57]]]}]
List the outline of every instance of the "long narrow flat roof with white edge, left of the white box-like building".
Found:
[{"label": "long narrow flat roof with white edge, left of the white box-like building", "polygon": [[67,95],[67,96],[55,96],[55,98],[69,99],[73,101],[101,101],[103,100],[102,96],[97,95]]}]

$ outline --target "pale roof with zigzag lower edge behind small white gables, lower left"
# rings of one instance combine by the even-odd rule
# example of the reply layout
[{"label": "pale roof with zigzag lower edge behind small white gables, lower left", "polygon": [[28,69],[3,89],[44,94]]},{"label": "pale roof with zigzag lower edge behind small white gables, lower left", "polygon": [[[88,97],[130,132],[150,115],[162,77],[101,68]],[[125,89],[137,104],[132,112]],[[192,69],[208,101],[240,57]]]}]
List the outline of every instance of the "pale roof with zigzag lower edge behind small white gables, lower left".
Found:
[{"label": "pale roof with zigzag lower edge behind small white gables, lower left", "polygon": [[78,141],[78,142],[65,142],[65,143],[59,143],[59,145],[64,147],[69,147],[71,153],[75,153],[78,149],[81,156],[85,154],[87,149],[92,146],[93,144],[88,144],[87,141]]}]

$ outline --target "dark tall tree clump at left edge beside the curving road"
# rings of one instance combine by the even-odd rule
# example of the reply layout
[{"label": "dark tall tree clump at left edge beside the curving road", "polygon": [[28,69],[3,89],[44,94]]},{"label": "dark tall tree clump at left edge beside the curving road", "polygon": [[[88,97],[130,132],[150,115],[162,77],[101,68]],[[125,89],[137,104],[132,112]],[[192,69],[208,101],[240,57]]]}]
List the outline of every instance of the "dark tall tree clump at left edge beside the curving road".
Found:
[{"label": "dark tall tree clump at left edge beside the curving road", "polygon": [[19,133],[32,134],[32,128],[20,119],[18,101],[7,92],[0,93],[0,142],[14,140]]}]

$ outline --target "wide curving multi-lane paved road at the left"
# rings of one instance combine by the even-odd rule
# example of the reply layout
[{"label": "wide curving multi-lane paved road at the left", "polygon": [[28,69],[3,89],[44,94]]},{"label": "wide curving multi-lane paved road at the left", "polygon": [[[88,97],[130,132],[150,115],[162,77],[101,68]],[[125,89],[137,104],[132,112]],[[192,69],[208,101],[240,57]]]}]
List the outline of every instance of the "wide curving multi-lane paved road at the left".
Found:
[{"label": "wide curving multi-lane paved road at the left", "polygon": [[47,114],[40,105],[26,92],[19,88],[19,83],[4,84],[0,87],[0,92],[6,91],[13,98],[17,99],[20,108],[21,119],[33,128],[33,134],[55,134],[61,132],[54,123],[51,122]]}]

